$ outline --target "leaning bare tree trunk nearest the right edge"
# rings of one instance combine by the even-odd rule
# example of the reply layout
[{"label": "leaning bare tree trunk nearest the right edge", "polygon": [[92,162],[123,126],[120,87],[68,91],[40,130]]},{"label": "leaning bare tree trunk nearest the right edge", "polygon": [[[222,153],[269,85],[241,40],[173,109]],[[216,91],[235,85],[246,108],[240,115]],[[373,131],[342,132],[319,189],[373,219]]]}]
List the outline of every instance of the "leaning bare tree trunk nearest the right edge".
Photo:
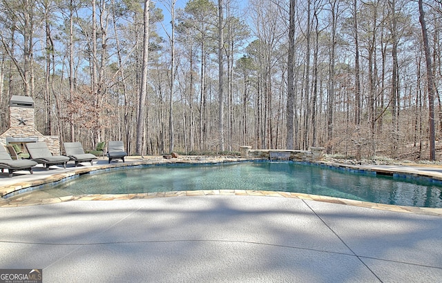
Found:
[{"label": "leaning bare tree trunk nearest the right edge", "polygon": [[419,0],[419,21],[421,22],[423,48],[425,50],[425,64],[427,65],[427,88],[428,88],[428,106],[429,106],[429,130],[430,130],[430,160],[436,160],[436,137],[434,129],[434,77],[432,72],[432,61],[430,46],[428,44],[427,26],[425,23],[425,12],[423,11],[423,1]]}]

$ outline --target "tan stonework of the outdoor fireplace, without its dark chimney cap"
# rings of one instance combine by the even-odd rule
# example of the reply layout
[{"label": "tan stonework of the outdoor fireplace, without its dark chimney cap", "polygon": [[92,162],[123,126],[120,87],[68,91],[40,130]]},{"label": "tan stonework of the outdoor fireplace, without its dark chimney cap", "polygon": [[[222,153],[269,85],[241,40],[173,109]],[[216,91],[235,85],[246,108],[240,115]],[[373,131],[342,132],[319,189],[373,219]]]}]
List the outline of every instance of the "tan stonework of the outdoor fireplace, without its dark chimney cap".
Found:
[{"label": "tan stonework of the outdoor fireplace, without its dark chimney cap", "polygon": [[[24,125],[20,124],[24,121]],[[10,128],[0,135],[0,144],[7,144],[7,137],[26,138],[37,137],[38,142],[46,142],[53,155],[60,154],[60,138],[54,135],[42,135],[35,129],[35,109],[10,107]]]}]

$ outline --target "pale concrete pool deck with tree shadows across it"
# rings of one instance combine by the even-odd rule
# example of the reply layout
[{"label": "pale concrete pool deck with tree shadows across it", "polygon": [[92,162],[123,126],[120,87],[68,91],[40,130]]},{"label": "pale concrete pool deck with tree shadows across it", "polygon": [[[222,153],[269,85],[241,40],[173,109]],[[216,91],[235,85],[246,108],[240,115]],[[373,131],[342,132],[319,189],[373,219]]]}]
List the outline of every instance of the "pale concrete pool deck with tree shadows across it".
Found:
[{"label": "pale concrete pool deck with tree shadows across it", "polygon": [[[401,169],[393,167],[381,169]],[[439,168],[402,169],[440,174]],[[1,174],[0,188],[73,170],[81,168]],[[44,282],[442,280],[441,208],[373,209],[314,197],[195,191],[48,204],[2,199],[0,269],[43,269]]]}]

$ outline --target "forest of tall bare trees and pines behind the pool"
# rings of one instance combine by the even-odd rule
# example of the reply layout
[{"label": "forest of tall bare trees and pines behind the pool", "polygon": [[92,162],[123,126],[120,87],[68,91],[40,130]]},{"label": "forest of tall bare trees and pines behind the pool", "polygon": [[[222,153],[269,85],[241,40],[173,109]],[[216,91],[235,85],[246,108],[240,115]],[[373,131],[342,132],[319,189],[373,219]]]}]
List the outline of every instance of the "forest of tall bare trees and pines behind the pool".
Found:
[{"label": "forest of tall bare trees and pines behind the pool", "polygon": [[0,0],[0,133],[27,95],[85,148],[434,160],[441,26],[441,0]]}]

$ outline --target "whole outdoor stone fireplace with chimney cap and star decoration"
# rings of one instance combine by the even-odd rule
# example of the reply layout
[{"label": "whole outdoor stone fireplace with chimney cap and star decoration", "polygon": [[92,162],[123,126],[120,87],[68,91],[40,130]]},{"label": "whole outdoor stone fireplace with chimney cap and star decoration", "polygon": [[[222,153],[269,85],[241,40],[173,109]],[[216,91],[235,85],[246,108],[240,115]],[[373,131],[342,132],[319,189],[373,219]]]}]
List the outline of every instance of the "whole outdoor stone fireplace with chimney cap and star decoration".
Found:
[{"label": "whole outdoor stone fireplace with chimney cap and star decoration", "polygon": [[50,152],[60,154],[58,136],[43,135],[35,128],[35,110],[32,97],[12,95],[10,100],[10,127],[0,135],[0,144],[18,144],[26,151],[28,142],[46,142]]}]

